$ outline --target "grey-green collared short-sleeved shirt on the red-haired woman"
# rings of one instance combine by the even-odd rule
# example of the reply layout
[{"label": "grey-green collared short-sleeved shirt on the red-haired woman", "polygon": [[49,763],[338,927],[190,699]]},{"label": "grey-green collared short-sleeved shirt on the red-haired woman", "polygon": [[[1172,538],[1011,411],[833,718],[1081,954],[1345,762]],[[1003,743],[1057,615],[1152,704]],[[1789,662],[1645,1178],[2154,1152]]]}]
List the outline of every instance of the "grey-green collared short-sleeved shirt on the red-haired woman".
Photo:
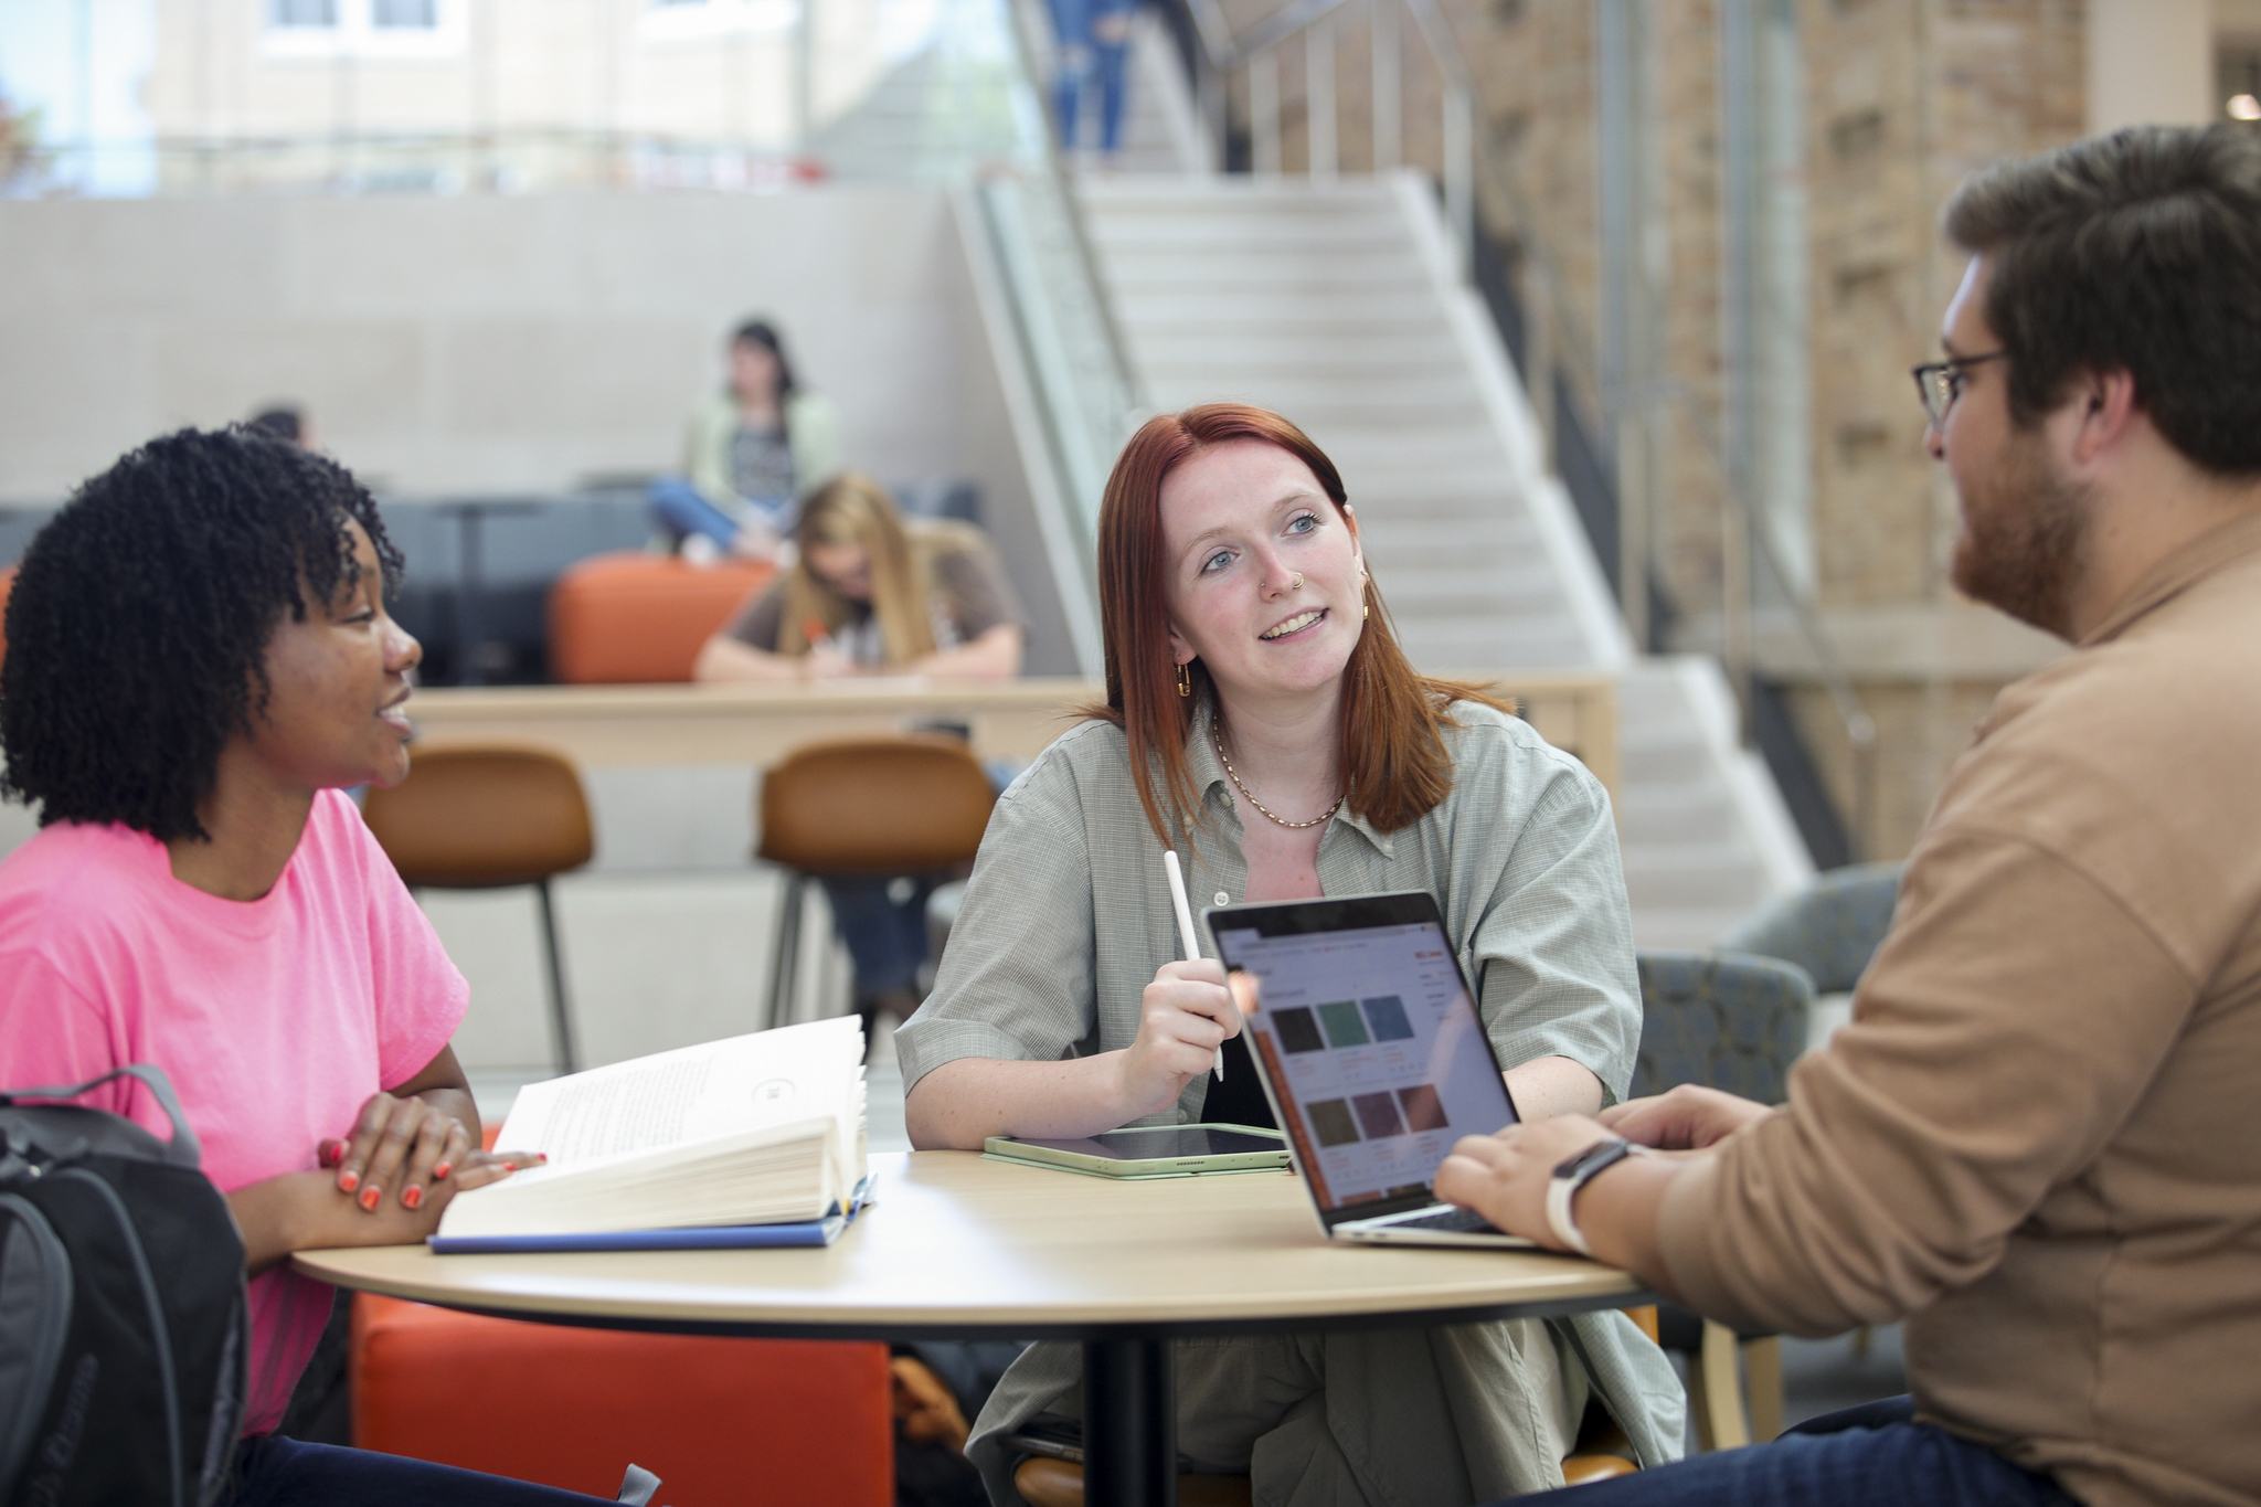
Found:
[{"label": "grey-green collared short-sleeved shirt on the red-haired woman", "polygon": [[[1320,890],[1436,895],[1501,1064],[1569,1057],[1608,1100],[1623,1098],[1641,1005],[1610,798],[1528,723],[1474,703],[1452,716],[1452,793],[1400,831],[1341,811],[1320,834]],[[1198,913],[1239,901],[1248,865],[1207,705],[1185,752],[1201,816],[1178,859]],[[1119,728],[1083,723],[997,798],[934,992],[895,1033],[902,1082],[959,1057],[1054,1062],[1128,1046],[1140,992],[1176,958],[1162,845],[1128,746]],[[1140,1123],[1198,1121],[1207,1084],[1192,1080],[1173,1114]]]}]

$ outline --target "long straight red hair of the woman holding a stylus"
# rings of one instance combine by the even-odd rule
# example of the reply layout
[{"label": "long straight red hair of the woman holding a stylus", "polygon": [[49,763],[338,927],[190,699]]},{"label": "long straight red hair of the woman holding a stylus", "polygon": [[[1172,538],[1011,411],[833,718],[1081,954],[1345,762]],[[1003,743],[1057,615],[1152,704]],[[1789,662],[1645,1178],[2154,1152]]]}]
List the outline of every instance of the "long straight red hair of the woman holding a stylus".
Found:
[{"label": "long straight red hair of the woman holding a stylus", "polygon": [[[1205,402],[1140,425],[1108,474],[1099,504],[1099,624],[1108,662],[1106,705],[1085,716],[1110,721],[1130,743],[1140,804],[1162,847],[1176,822],[1192,834],[1198,791],[1185,761],[1196,696],[1178,696],[1169,648],[1169,567],[1162,560],[1162,484],[1212,445],[1264,441],[1311,468],[1336,511],[1350,506],[1334,461],[1302,429],[1271,409]],[[1201,660],[1189,667],[1207,687]],[[1366,578],[1366,630],[1343,667],[1345,804],[1381,831],[1411,827],[1452,791],[1452,757],[1440,728],[1454,700],[1501,707],[1472,685],[1418,676],[1397,646],[1381,590]],[[1155,775],[1160,773],[1160,789]],[[1171,820],[1164,820],[1164,807]]]}]

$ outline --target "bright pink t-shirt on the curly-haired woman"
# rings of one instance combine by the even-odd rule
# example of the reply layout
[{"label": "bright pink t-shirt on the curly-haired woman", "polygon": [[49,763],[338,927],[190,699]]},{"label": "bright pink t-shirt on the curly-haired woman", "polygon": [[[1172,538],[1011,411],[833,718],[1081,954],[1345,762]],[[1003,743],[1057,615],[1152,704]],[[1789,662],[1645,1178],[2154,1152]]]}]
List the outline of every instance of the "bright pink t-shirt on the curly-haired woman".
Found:
[{"label": "bright pink t-shirt on the curly-haired woman", "polygon": [[[283,879],[253,901],[181,883],[163,843],[129,827],[59,822],[0,863],[0,1082],[154,1062],[224,1193],[312,1168],[317,1141],[448,1046],[466,996],[337,791],[314,798]],[[165,1134],[131,1080],[84,1103]],[[330,1288],[287,1265],[251,1281],[244,1432],[283,1421],[328,1315]]]}]

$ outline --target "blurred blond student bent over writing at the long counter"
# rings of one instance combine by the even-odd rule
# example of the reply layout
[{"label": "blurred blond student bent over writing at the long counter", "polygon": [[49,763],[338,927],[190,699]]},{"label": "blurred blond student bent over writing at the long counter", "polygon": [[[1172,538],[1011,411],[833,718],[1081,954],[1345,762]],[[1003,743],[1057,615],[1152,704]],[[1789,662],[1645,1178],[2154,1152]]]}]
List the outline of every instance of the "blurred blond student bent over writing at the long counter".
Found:
[{"label": "blurred blond student bent over writing at the long counter", "polygon": [[[794,545],[794,563],[699,651],[699,680],[1020,673],[1020,603],[979,529],[907,522],[875,481],[846,474],[803,504]],[[866,1021],[918,1005],[936,881],[825,879]]]}]

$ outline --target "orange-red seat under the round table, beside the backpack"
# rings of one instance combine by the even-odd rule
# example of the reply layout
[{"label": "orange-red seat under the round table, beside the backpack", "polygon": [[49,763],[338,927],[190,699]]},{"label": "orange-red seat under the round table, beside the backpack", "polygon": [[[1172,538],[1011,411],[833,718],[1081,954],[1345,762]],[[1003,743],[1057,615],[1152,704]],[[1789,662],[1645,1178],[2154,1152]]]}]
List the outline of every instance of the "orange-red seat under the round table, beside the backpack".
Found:
[{"label": "orange-red seat under the round table, beside the backpack", "polygon": [[724,1340],[353,1299],[353,1441],[674,1507],[895,1500],[884,1344]]}]

